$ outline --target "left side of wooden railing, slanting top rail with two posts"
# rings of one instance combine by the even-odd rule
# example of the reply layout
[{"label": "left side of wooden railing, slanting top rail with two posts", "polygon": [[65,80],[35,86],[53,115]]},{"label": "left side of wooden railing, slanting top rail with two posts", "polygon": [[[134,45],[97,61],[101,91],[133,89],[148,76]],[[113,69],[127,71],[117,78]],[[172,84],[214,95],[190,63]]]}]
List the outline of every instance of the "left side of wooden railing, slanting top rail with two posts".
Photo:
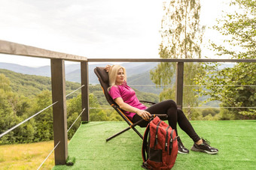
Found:
[{"label": "left side of wooden railing, slanting top rail with two posts", "polygon": [[81,62],[81,95],[83,109],[82,121],[89,121],[88,103],[88,62],[87,58],[78,55],[69,55],[62,52],[53,52],[46,49],[39,49],[33,46],[26,46],[19,43],[11,43],[0,40],[0,53],[8,55],[23,55],[35,58],[49,58],[51,68],[52,100],[53,103],[53,138],[55,164],[66,164],[68,158],[68,136],[67,136],[67,114],[66,114],[66,79],[64,61]]}]

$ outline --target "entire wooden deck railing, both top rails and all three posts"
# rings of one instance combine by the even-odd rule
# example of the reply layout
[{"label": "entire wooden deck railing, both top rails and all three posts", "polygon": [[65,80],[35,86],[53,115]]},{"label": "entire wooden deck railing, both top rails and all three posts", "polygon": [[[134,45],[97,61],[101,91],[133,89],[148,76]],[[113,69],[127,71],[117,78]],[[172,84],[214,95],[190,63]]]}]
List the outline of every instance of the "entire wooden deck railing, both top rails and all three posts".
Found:
[{"label": "entire wooden deck railing, both top rails and all three posts", "polygon": [[64,61],[81,62],[81,100],[84,112],[81,120],[90,121],[89,114],[89,79],[88,62],[176,62],[176,103],[182,108],[183,97],[183,74],[185,62],[256,62],[256,59],[162,59],[162,58],[85,58],[78,55],[69,55],[62,52],[53,52],[46,49],[39,49],[33,46],[26,46],[19,43],[11,43],[0,40],[0,53],[9,55],[23,55],[35,58],[49,58],[51,67],[52,100],[53,103],[53,137],[54,145],[59,144],[55,149],[55,164],[64,165],[68,158],[67,142],[67,118],[66,118],[66,79]]}]

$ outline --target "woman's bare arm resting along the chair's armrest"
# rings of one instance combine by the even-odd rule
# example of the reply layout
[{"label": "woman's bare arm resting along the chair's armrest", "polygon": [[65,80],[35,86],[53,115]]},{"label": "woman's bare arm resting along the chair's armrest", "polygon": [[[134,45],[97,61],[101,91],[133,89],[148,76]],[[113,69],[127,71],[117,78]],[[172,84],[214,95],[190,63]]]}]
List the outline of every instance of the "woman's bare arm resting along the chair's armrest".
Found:
[{"label": "woman's bare arm resting along the chair's armrest", "polygon": [[114,102],[117,103],[117,105],[120,107],[120,109],[123,109],[127,112],[134,112],[146,121],[148,121],[149,118],[151,117],[151,114],[149,112],[147,112],[145,110],[137,109],[133,106],[130,106],[127,103],[124,103],[122,97],[117,97],[116,99],[114,99]]}]

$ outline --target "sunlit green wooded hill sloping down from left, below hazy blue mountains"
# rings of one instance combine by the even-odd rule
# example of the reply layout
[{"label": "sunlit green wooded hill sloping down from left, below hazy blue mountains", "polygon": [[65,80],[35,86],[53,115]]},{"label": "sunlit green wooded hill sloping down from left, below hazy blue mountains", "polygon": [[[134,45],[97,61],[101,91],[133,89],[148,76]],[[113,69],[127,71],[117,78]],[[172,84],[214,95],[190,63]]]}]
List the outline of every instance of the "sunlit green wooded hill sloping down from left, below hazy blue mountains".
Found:
[{"label": "sunlit green wooded hill sloping down from left, below hazy blue mountains", "polygon": [[[16,73],[11,70],[0,69],[0,74],[4,74],[10,80],[10,87],[12,91],[18,96],[24,97],[34,97],[35,95],[41,93],[41,91],[48,90],[51,91],[51,80],[47,76],[35,76],[23,73]],[[81,86],[78,82],[66,81],[66,94],[70,94]],[[159,102],[157,94],[146,93],[143,91],[138,91],[135,89],[137,97],[140,100],[150,100],[151,102]],[[81,91],[75,91],[67,97],[70,99],[72,97],[78,96]],[[89,93],[93,94],[100,105],[108,106],[105,100],[104,94],[102,93],[102,88],[100,85],[93,85],[89,87]]]}]

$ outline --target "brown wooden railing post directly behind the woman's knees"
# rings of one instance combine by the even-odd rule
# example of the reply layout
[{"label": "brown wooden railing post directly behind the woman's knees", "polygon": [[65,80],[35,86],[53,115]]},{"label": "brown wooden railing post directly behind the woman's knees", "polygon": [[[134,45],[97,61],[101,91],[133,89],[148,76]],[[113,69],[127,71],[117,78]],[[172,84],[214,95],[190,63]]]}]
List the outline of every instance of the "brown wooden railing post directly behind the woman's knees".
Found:
[{"label": "brown wooden railing post directly behind the woman's knees", "polygon": [[177,76],[176,76],[176,103],[178,108],[182,109],[183,103],[183,79],[184,79],[184,63],[177,63]]}]

